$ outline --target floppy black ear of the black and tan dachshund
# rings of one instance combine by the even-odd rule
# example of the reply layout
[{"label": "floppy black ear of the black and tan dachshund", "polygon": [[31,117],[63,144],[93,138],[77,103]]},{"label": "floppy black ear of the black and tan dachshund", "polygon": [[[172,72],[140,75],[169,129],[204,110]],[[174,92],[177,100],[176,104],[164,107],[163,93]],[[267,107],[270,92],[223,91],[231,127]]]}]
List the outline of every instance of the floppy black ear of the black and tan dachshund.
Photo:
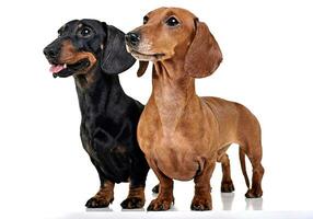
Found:
[{"label": "floppy black ear of the black and tan dachshund", "polygon": [[120,73],[129,69],[136,59],[126,50],[125,34],[112,25],[106,25],[106,39],[102,51],[101,69],[105,73]]}]

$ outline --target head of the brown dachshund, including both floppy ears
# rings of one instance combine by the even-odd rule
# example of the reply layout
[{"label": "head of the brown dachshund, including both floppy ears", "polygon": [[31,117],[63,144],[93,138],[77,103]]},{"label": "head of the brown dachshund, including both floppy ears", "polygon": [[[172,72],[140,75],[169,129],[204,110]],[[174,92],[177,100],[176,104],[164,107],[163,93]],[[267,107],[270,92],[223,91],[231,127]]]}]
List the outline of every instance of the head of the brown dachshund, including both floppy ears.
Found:
[{"label": "head of the brown dachshund, including both floppy ears", "polygon": [[[189,11],[160,8],[143,18],[143,25],[126,35],[127,50],[146,61],[182,61],[194,78],[207,77],[219,67],[222,54],[208,26]],[[144,68],[143,68],[144,69]],[[144,70],[139,70],[141,76]]]}]

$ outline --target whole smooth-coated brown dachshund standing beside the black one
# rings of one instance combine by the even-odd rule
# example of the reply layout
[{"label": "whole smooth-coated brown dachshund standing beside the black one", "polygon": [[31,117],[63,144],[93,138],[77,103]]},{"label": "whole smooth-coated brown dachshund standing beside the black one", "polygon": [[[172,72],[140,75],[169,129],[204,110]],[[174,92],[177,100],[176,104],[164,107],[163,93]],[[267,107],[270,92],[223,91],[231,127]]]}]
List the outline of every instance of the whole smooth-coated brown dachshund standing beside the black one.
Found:
[{"label": "whole smooth-coated brown dachshund standing beside the black one", "polygon": [[148,13],[143,25],[126,35],[128,51],[141,61],[138,76],[153,61],[153,91],[141,114],[138,140],[149,165],[160,180],[160,193],[148,210],[167,210],[174,201],[173,180],[195,181],[193,210],[212,209],[210,177],[221,162],[222,192],[232,192],[230,160],[225,151],[240,145],[253,166],[246,197],[263,195],[260,127],[243,105],[218,97],[199,97],[195,78],[210,76],[222,54],[208,26],[187,10],[160,8]]}]

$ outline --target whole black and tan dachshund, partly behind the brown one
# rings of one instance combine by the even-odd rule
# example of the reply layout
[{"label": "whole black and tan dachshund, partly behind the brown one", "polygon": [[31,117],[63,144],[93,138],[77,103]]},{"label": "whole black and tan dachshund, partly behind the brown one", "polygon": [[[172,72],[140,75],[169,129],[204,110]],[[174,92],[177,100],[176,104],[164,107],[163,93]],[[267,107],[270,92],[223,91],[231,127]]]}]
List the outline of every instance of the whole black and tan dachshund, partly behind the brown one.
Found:
[{"label": "whole black and tan dachshund, partly behind the brown one", "polygon": [[126,95],[119,84],[117,74],[135,64],[126,51],[125,34],[96,20],[68,22],[58,34],[44,54],[55,78],[74,78],[82,145],[101,181],[100,191],[85,206],[107,207],[115,183],[130,182],[128,197],[120,205],[141,208],[149,166],[136,129],[143,105]]}]

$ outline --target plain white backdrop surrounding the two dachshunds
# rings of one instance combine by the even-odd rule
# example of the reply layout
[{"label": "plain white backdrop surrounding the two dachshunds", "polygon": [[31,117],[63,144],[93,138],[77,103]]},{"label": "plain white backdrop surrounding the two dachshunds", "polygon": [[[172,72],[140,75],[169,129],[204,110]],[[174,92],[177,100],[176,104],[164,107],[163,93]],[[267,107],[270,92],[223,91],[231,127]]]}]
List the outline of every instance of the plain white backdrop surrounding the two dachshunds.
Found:
[{"label": "plain white backdrop surrounding the two dachshunds", "polygon": [[[258,117],[266,170],[264,197],[244,198],[246,187],[233,146],[229,154],[236,191],[219,193],[221,169],[217,165],[212,212],[189,211],[193,182],[175,182],[171,212],[121,211],[127,184],[116,185],[109,209],[86,211],[84,204],[96,193],[98,178],[80,142],[73,79],[53,79],[42,50],[69,20],[97,19],[128,32],[142,23],[147,12],[162,5],[193,11],[219,42],[223,62],[213,76],[197,80],[197,92],[240,102]],[[313,209],[312,11],[309,0],[2,1],[0,218],[313,218],[310,211],[298,211]],[[136,70],[137,64],[123,73],[121,84],[146,103],[151,73],[138,79]],[[146,207],[156,182],[150,172]]]}]

